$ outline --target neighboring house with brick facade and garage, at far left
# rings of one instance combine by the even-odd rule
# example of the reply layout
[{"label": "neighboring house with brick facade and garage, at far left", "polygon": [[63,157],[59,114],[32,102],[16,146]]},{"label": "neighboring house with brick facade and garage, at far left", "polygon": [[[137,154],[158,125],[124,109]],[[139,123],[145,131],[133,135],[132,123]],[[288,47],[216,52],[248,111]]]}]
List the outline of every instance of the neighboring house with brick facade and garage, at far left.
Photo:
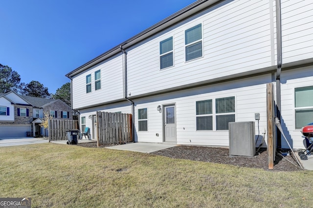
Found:
[{"label": "neighboring house with brick facade and garage, at far left", "polygon": [[71,107],[59,99],[22,96],[14,91],[0,93],[0,138],[48,136],[40,126],[45,114],[56,119],[73,117]]}]

